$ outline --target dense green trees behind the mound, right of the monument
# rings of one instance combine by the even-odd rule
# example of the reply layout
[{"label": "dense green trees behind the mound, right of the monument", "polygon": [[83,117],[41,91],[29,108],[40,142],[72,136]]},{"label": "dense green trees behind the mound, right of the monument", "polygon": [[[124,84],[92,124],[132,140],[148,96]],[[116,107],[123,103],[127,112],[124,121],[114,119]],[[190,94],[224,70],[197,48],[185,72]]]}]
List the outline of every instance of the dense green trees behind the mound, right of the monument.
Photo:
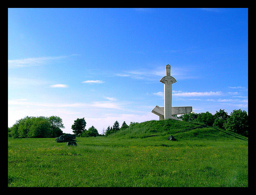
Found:
[{"label": "dense green trees behind the mound, right of the monument", "polygon": [[228,115],[224,109],[216,111],[215,114],[211,114],[208,111],[199,114],[191,112],[182,114],[177,118],[183,121],[203,123],[211,127],[225,129],[248,137],[249,121],[245,110],[233,110],[230,115]]}]

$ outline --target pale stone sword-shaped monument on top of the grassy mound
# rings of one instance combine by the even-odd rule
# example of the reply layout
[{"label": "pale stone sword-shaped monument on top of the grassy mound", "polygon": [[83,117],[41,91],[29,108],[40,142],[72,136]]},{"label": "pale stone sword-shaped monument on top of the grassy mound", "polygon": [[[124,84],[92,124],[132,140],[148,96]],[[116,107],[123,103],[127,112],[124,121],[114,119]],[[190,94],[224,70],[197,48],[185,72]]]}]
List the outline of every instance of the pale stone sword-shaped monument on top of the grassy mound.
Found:
[{"label": "pale stone sword-shaped monument on top of the grassy mound", "polygon": [[166,75],[160,80],[164,84],[164,107],[156,106],[151,112],[159,116],[159,120],[174,119],[180,120],[172,115],[186,114],[192,112],[192,106],[172,107],[172,84],[176,79],[171,76],[171,66],[165,66]]}]

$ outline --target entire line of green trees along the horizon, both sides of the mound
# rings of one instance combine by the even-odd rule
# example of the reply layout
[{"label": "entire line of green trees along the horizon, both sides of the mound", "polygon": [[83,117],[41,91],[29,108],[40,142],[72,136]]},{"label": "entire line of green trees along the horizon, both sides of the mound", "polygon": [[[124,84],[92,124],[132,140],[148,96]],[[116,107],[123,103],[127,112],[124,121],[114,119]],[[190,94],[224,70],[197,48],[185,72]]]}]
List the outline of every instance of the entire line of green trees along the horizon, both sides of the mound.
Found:
[{"label": "entire line of green trees along the horizon, both sides of the mound", "polygon": [[[183,121],[198,122],[205,125],[225,129],[227,131],[232,131],[234,133],[239,133],[244,136],[248,136],[248,115],[245,110],[233,110],[230,115],[228,115],[225,110],[220,109],[216,111],[215,114],[210,112],[206,113],[188,113],[176,116]],[[124,121],[122,126],[119,126],[119,122],[116,120],[113,127],[108,126],[106,132],[99,134],[98,130],[92,126],[85,129],[86,121],[84,118],[74,120],[74,124],[71,129],[73,133],[78,137],[97,137],[97,136],[107,136],[120,130],[124,130],[128,127],[132,127],[138,124],[138,122],[130,122],[127,125]],[[17,120],[12,127],[8,127],[8,137],[13,138],[55,138],[63,135],[63,131],[60,128],[65,128],[62,119],[59,116],[50,117],[33,117],[26,116],[23,119]]]}]

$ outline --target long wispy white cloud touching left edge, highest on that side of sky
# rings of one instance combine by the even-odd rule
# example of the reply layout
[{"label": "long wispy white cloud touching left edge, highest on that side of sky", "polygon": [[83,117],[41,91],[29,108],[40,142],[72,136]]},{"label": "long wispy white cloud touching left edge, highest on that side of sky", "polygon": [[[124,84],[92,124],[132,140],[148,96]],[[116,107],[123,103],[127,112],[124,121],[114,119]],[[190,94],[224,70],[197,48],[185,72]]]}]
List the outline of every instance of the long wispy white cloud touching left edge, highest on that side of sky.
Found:
[{"label": "long wispy white cloud touching left edge, highest on that side of sky", "polygon": [[54,57],[46,56],[46,57],[8,60],[8,67],[20,68],[20,67],[29,67],[29,66],[39,66],[39,65],[49,64],[49,63],[55,62],[56,60],[64,59],[70,56],[72,55],[62,55],[62,56],[54,56]]}]

